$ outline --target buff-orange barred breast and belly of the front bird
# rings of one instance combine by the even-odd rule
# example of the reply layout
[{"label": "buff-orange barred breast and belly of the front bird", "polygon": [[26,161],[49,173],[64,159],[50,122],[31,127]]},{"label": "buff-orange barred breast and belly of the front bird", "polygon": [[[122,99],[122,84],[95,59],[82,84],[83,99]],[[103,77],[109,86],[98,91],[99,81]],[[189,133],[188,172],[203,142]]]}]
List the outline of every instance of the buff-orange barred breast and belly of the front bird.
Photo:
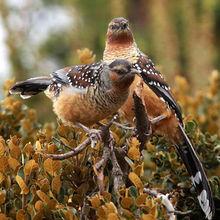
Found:
[{"label": "buff-orange barred breast and belly of the front bird", "polygon": [[128,90],[118,94],[117,91],[97,87],[88,87],[79,93],[66,87],[53,100],[53,108],[58,118],[65,123],[92,125],[117,112],[128,93]]}]

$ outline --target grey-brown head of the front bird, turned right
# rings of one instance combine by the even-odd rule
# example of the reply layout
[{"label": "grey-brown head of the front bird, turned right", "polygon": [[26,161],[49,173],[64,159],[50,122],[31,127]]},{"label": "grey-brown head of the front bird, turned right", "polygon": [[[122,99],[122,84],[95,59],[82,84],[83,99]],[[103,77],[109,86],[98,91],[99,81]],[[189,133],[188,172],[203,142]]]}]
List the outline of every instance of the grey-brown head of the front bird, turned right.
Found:
[{"label": "grey-brown head of the front bird, turned right", "polygon": [[123,59],[116,59],[109,65],[109,79],[112,85],[120,88],[129,88],[134,80],[137,70],[132,67],[132,64]]}]

